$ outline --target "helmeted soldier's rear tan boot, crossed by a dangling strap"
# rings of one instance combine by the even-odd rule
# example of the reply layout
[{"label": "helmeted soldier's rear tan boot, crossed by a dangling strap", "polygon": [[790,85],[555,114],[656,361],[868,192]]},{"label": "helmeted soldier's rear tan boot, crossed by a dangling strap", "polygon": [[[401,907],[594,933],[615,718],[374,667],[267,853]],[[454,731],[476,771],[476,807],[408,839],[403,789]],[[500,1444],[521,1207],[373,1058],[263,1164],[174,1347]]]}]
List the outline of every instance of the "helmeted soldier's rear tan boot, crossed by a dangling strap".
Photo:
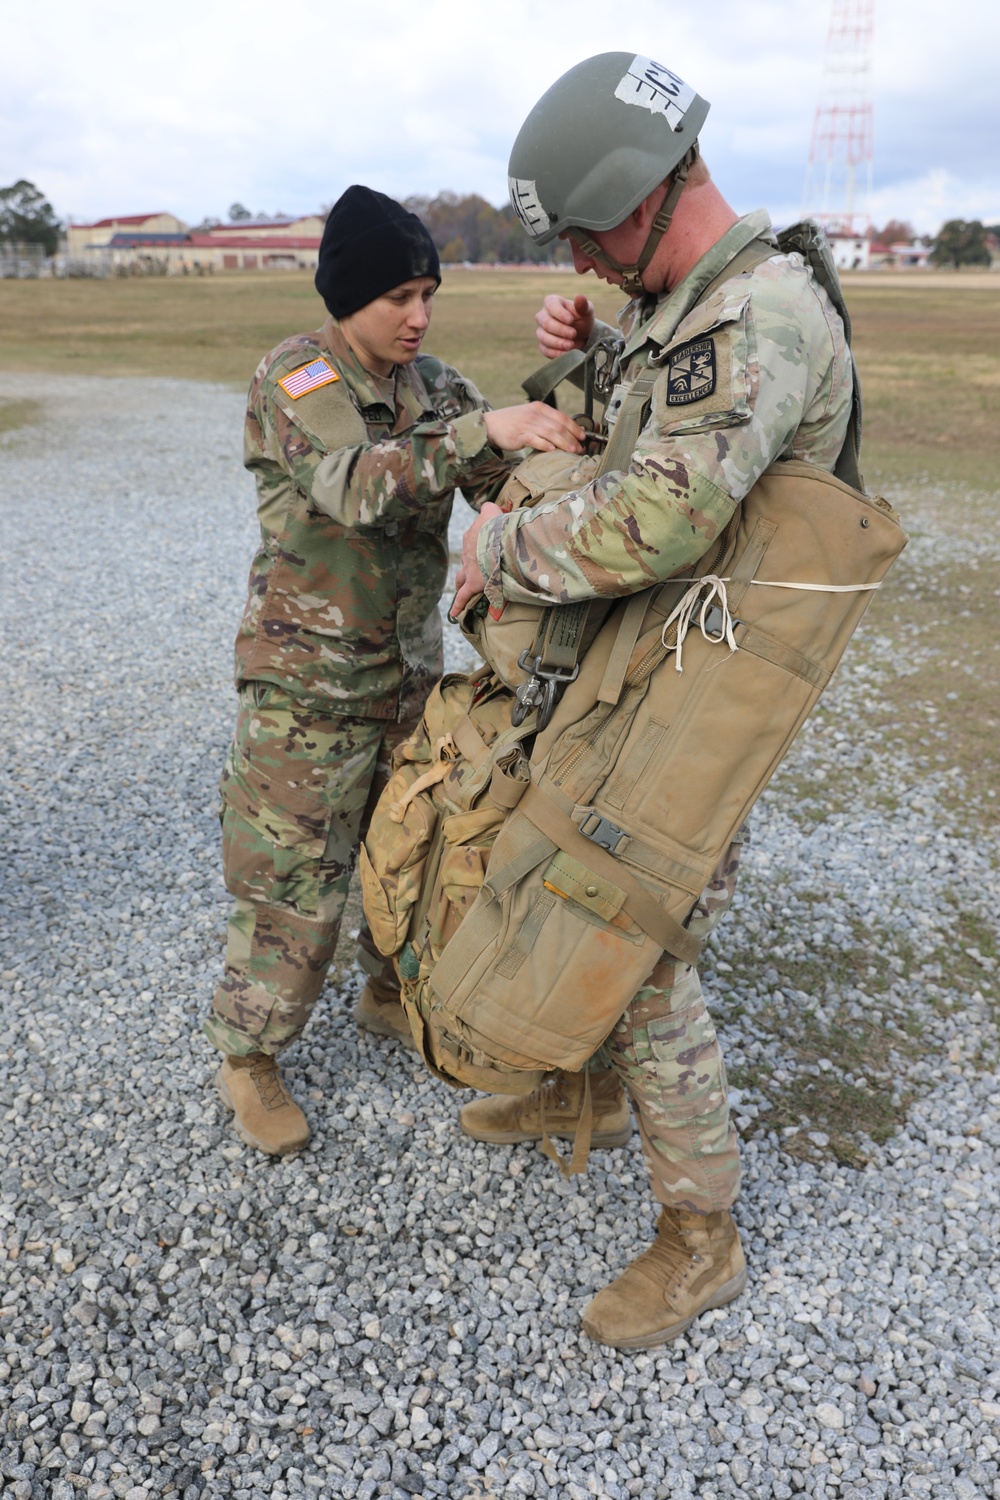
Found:
[{"label": "helmeted soldier's rear tan boot, crossed by a dangling strap", "polygon": [[[459,1112],[459,1125],[472,1140],[513,1144],[558,1136],[576,1140],[583,1108],[582,1072],[553,1072],[532,1094],[487,1094]],[[624,1146],[633,1132],[631,1110],[618,1074],[591,1074],[594,1126],[591,1146]]]}]

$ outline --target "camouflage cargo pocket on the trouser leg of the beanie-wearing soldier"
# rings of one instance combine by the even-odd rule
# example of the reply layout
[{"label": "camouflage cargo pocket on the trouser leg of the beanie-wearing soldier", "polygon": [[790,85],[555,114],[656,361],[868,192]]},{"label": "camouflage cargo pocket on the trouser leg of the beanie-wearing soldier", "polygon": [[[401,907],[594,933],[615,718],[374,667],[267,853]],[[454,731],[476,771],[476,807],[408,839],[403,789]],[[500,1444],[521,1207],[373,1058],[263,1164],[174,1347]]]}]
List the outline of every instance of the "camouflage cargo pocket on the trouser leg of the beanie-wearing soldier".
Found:
[{"label": "camouflage cargo pocket on the trouser leg of the beanie-wearing soldier", "polygon": [[229,894],[315,915],[331,818],[322,795],[282,786],[238,750],[229,753],[220,792]]}]

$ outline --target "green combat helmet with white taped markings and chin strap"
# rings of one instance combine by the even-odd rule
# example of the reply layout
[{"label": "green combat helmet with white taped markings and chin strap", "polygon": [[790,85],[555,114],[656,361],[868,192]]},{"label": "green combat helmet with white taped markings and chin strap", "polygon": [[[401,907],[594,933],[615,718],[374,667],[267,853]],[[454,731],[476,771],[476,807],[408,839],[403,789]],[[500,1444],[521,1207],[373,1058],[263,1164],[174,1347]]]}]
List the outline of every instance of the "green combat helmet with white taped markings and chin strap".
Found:
[{"label": "green combat helmet with white taped markings and chin strap", "polygon": [[[567,231],[585,255],[621,272],[627,292],[666,232],[708,116],[706,99],[651,57],[600,52],[556,80],[510,153],[510,201],[535,244]],[[634,266],[601,250],[588,230],[613,230],[666,177],[670,190]]]}]

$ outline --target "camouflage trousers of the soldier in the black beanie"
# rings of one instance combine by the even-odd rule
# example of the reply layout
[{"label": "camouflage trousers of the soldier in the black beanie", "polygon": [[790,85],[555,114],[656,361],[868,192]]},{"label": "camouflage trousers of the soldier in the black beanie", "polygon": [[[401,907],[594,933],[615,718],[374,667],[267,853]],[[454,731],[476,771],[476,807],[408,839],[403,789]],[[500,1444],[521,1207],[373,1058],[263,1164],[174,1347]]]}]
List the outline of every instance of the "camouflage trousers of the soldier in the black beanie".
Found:
[{"label": "camouflage trousers of the soldier in the black beanie", "polygon": [[[222,772],[222,864],[235,897],[204,1030],[220,1052],[279,1053],[319,999],[360,840],[414,723],[324,716],[280,688],[240,690]],[[397,988],[367,922],[358,960]]]}]

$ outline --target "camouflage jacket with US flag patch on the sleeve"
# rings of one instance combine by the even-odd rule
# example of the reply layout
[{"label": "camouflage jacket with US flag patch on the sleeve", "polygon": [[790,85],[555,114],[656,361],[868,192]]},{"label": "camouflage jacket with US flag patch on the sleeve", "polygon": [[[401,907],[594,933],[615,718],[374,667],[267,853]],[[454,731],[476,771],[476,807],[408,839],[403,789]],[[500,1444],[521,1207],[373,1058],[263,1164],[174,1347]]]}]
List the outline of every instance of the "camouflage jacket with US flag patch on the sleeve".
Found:
[{"label": "camouflage jacket with US flag patch on the sleeve", "polygon": [[484,410],[430,356],[376,378],[333,318],[261,360],[243,448],[261,544],[237,684],[274,682],[313,711],[358,718],[420,712],[441,676],[454,489],[478,504],[510,470]]}]

